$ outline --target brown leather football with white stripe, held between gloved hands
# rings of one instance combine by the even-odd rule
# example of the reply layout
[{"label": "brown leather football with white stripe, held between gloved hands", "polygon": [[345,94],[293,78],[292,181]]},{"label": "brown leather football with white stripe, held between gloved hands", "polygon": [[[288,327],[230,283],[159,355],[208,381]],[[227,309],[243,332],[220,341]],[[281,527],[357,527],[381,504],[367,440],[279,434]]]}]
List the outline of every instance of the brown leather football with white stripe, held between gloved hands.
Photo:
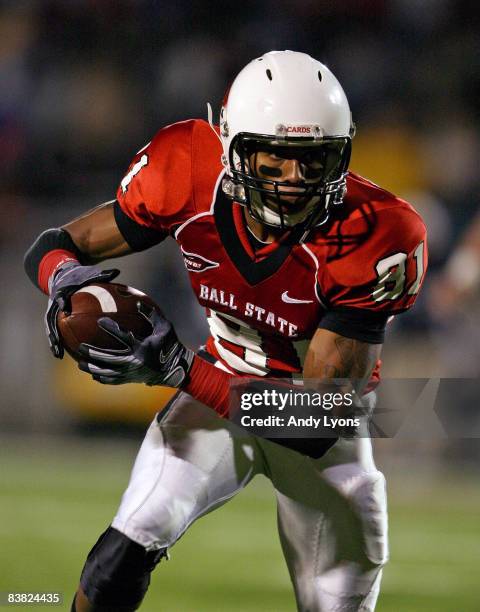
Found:
[{"label": "brown leather football with white stripe, held between gloved hands", "polygon": [[148,311],[160,308],[147,295],[126,285],[96,283],[87,285],[70,297],[68,311],[60,311],[57,317],[58,332],[65,350],[76,360],[84,360],[78,352],[82,343],[99,348],[125,348],[118,340],[98,327],[98,320],[109,317],[125,331],[131,331],[142,339],[152,332],[148,319],[138,311],[138,304]]}]

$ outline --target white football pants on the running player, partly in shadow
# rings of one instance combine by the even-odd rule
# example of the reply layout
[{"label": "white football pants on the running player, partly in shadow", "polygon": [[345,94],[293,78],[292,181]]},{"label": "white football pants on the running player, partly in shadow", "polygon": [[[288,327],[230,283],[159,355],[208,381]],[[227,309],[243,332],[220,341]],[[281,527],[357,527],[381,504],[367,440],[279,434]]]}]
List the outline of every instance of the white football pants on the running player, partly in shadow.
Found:
[{"label": "white football pants on the running player, partly in shadow", "polygon": [[113,527],[171,547],[256,474],[276,492],[278,529],[298,610],[370,612],[388,556],[385,479],[368,438],[311,459],[250,435],[179,393],[151,424]]}]

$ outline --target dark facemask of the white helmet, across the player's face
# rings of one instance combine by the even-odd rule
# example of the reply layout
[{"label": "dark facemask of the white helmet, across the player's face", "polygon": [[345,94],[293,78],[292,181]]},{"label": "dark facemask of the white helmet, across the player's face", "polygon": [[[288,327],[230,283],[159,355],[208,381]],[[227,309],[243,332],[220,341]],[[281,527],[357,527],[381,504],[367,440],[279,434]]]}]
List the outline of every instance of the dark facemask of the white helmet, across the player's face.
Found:
[{"label": "dark facemask of the white helmet, across the player's face", "polygon": [[[241,132],[229,152],[231,179],[224,191],[264,225],[322,225],[346,191],[351,138],[279,137]],[[298,180],[282,180],[286,160],[296,160]],[[230,185],[228,183],[230,182]]]}]

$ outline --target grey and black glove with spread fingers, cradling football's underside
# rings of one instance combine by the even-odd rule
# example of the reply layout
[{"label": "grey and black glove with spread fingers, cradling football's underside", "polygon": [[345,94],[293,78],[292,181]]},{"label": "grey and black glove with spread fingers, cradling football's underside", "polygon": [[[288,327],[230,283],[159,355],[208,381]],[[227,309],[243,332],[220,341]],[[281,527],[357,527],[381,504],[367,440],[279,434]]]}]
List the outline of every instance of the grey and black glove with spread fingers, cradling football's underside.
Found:
[{"label": "grey and black glove with spread fingers, cradling football's underside", "polygon": [[108,317],[98,320],[98,326],[124,345],[121,349],[103,349],[81,344],[79,352],[85,361],[79,362],[83,372],[107,385],[145,383],[179,387],[187,377],[195,353],[177,338],[172,324],[159,312],[137,304],[138,311],[152,326],[152,333],[139,340],[124,331]]}]

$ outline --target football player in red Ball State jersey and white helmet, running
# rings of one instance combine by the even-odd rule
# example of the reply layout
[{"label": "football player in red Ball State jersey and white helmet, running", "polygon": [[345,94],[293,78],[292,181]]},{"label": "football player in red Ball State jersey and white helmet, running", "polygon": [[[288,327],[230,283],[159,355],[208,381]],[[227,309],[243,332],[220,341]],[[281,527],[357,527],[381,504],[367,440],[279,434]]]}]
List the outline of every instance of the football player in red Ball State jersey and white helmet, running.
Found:
[{"label": "football player in red Ball State jersey and white helmet, running", "polygon": [[425,227],[409,204],[348,172],[353,135],[326,66],[267,53],[234,80],[219,127],[210,111],[208,123],[161,129],[115,201],[47,230],[27,253],[27,272],[50,296],[56,357],[56,316],[68,297],[118,274],[95,264],[167,237],[211,331],[194,352],[159,315],[143,341],[102,319],[124,350],[83,347],[80,368],[101,383],[178,393],[148,429],[72,610],[137,609],[151,571],[190,525],[260,473],[276,492],[298,609],[374,609],[388,552],[385,482],[370,440],[285,447],[225,418],[233,377],[361,379],[373,402],[387,320],[412,306],[423,281]]}]

